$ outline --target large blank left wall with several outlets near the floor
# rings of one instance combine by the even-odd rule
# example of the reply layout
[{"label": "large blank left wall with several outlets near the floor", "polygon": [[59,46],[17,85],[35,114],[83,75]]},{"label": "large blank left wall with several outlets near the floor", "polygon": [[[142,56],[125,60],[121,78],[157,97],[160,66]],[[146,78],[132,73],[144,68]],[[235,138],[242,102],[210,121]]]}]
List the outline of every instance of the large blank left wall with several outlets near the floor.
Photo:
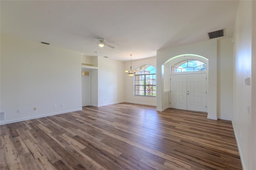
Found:
[{"label": "large blank left wall with several outlets near the floor", "polygon": [[81,109],[80,53],[1,35],[1,124]]}]

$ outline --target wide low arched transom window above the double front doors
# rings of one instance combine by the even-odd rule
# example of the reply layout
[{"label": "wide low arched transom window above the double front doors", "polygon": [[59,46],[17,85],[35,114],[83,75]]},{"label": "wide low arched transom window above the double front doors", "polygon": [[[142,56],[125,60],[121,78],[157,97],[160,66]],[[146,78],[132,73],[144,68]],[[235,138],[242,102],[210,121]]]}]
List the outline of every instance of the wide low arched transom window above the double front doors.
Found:
[{"label": "wide low arched transom window above the double front doors", "polygon": [[186,71],[206,71],[206,63],[198,60],[187,59],[180,61],[171,67],[172,73],[180,73]]}]

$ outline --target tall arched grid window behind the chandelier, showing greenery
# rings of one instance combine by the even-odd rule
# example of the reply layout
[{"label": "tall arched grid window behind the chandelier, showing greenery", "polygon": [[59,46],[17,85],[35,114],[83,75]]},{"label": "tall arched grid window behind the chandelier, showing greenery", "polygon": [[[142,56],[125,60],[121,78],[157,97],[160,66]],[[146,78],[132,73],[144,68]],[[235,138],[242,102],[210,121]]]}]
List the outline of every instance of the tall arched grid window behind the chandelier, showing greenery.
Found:
[{"label": "tall arched grid window behind the chandelier, showing greenery", "polygon": [[156,96],[156,67],[141,65],[134,75],[134,94],[140,96]]}]

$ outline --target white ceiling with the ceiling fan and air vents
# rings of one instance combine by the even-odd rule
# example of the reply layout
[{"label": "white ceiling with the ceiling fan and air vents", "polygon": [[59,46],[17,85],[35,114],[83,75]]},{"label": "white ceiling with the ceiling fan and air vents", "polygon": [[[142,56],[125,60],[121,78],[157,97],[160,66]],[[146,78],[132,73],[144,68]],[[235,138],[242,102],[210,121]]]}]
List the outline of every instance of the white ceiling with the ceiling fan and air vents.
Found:
[{"label": "white ceiling with the ceiling fan and air vents", "polygon": [[[158,49],[232,37],[239,1],[0,1],[1,34],[127,61]],[[114,41],[98,47],[97,38]],[[96,53],[97,52],[97,53]]]}]

